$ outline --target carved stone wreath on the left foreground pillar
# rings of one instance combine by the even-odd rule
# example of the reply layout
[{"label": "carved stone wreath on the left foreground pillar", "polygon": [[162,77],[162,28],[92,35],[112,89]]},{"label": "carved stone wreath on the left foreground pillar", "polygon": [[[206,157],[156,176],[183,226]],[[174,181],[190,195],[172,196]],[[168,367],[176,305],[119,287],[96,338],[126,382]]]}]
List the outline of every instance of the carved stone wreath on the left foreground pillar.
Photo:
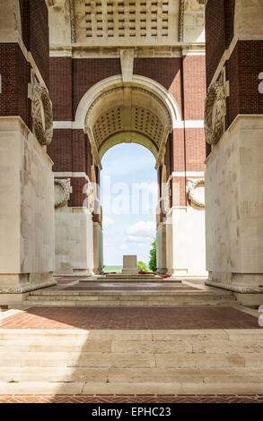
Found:
[{"label": "carved stone wreath on the left foreground pillar", "polygon": [[41,145],[49,145],[53,136],[52,104],[47,88],[37,82],[32,93],[33,130]]}]

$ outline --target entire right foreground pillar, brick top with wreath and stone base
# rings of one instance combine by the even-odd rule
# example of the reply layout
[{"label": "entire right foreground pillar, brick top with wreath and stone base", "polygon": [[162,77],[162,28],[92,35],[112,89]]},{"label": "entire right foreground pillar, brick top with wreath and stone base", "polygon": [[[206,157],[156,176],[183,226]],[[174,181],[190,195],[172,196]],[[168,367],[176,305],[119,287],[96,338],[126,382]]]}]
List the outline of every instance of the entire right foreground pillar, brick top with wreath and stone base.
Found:
[{"label": "entire right foreground pillar, brick top with wreath and stone base", "polygon": [[[263,303],[263,4],[206,3],[208,285]],[[216,21],[215,21],[216,13]],[[215,45],[215,30],[220,47]]]}]

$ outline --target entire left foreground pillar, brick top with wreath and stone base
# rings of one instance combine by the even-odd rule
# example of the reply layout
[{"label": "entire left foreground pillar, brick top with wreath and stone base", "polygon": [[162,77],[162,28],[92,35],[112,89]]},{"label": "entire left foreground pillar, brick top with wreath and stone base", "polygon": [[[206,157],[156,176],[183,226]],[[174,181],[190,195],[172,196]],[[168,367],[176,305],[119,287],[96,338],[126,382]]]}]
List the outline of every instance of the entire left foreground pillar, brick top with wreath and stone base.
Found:
[{"label": "entire left foreground pillar, brick top with wreath and stone base", "polygon": [[56,284],[48,8],[0,0],[0,9],[0,305],[20,305]]}]

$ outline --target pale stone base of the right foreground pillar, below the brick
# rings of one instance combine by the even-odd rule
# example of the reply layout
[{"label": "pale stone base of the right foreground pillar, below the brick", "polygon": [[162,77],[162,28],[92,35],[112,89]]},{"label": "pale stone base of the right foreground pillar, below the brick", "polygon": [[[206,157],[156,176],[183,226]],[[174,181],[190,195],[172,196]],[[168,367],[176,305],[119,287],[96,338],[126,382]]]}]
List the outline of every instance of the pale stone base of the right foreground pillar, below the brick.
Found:
[{"label": "pale stone base of the right foreground pillar, below the brick", "polygon": [[219,286],[262,285],[262,121],[237,117],[207,160],[207,270]]}]

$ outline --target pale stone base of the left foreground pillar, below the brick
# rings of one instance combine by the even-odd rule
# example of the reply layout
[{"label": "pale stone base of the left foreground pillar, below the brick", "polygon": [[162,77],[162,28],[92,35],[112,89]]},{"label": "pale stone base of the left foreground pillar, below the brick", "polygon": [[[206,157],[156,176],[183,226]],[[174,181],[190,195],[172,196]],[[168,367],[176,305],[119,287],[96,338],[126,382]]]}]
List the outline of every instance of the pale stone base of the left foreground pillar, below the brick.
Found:
[{"label": "pale stone base of the left foreground pillar, below the brick", "polygon": [[0,118],[0,305],[56,284],[52,165],[20,117]]}]

